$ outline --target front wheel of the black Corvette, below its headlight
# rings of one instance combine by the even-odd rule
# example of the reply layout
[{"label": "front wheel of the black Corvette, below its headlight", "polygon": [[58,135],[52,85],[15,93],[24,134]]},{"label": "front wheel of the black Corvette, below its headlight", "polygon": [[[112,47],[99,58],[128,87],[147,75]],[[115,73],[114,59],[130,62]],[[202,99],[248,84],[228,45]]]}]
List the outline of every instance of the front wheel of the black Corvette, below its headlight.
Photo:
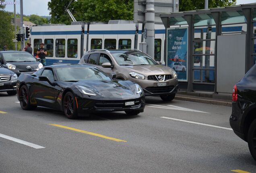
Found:
[{"label": "front wheel of the black Corvette, below its headlight", "polygon": [[77,107],[73,93],[68,92],[64,96],[63,110],[68,119],[75,119],[77,117]]}]

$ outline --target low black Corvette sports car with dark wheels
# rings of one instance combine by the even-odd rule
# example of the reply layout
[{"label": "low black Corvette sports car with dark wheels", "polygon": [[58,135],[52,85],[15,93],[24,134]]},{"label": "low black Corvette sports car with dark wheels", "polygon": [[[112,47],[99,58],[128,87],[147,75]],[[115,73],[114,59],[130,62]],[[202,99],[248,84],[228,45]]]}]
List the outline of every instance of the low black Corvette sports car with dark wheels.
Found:
[{"label": "low black Corvette sports car with dark wheels", "polygon": [[111,80],[91,65],[52,65],[21,74],[17,97],[24,110],[50,107],[64,111],[69,119],[100,111],[137,115],[145,108],[145,95],[138,84]]}]

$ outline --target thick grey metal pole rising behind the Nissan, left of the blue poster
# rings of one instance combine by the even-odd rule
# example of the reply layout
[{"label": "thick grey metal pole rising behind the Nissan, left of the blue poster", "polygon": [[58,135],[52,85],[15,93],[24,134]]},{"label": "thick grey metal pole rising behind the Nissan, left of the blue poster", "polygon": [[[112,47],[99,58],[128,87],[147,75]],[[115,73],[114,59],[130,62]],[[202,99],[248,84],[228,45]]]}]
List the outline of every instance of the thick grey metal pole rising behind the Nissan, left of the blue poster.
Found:
[{"label": "thick grey metal pole rising behind the Nissan, left of the blue poster", "polygon": [[145,10],[145,28],[147,29],[147,37],[145,42],[147,42],[147,54],[154,58],[154,43],[155,43],[155,8],[154,0],[146,0],[146,10]]}]

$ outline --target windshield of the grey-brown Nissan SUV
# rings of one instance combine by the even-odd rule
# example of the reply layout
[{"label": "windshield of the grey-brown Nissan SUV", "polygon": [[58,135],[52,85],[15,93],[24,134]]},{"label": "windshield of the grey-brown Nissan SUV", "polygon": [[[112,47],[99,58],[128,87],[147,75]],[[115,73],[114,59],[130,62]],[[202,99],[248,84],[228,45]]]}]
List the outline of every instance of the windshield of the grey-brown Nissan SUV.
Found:
[{"label": "windshield of the grey-brown Nissan SUV", "polygon": [[119,65],[152,65],[158,64],[155,60],[142,52],[115,52],[113,53]]}]

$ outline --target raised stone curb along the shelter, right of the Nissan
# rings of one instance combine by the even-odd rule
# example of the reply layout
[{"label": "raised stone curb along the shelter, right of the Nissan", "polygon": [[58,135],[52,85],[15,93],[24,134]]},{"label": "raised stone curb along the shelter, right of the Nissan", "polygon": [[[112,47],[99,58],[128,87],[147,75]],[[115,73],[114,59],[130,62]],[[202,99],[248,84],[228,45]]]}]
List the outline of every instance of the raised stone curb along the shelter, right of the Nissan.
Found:
[{"label": "raised stone curb along the shelter, right of the Nissan", "polygon": [[194,97],[183,97],[180,95],[176,95],[174,99],[181,100],[181,101],[192,101],[192,102],[198,102],[198,103],[207,103],[212,105],[232,107],[232,103],[228,101],[217,101],[217,100],[201,99],[201,98],[194,98]]}]

